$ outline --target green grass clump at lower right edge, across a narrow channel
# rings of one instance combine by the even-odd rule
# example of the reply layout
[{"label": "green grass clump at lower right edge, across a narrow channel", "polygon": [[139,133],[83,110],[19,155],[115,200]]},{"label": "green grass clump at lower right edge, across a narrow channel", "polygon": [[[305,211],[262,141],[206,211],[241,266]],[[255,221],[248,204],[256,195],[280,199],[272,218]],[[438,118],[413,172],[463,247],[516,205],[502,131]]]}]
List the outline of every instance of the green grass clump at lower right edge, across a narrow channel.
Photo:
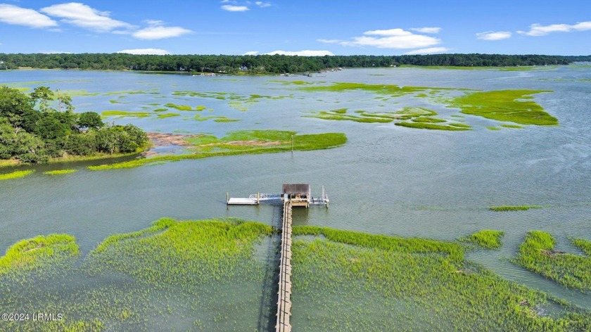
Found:
[{"label": "green grass clump at lower right edge, across a narrow channel", "polygon": [[512,262],[567,288],[590,291],[591,257],[554,250],[555,243],[556,240],[544,231],[530,231]]}]

